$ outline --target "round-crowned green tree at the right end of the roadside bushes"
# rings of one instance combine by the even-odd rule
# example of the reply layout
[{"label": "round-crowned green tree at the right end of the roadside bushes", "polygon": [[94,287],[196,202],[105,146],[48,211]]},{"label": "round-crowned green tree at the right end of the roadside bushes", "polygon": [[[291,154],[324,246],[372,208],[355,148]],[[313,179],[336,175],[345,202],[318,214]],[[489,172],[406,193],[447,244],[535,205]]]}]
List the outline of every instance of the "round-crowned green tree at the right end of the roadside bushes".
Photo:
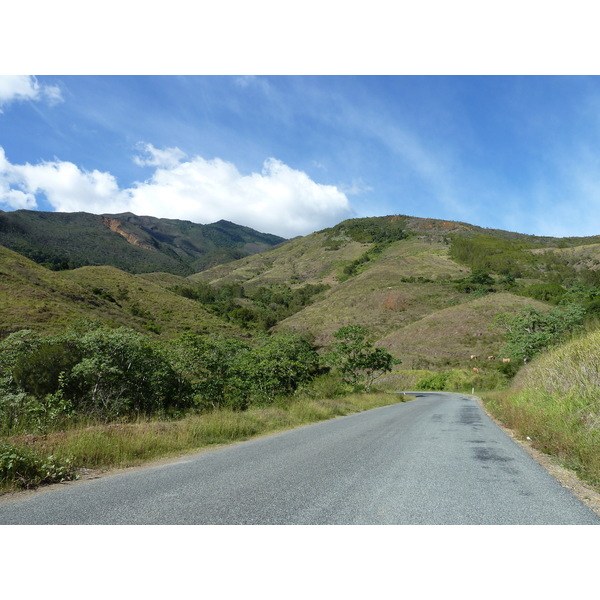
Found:
[{"label": "round-crowned green tree at the right end of the roadside bushes", "polygon": [[333,342],[326,354],[326,361],[337,369],[346,383],[357,386],[365,385],[368,390],[373,381],[392,370],[395,359],[383,348],[373,348],[367,340],[369,330],[361,325],[341,327],[333,337]]}]

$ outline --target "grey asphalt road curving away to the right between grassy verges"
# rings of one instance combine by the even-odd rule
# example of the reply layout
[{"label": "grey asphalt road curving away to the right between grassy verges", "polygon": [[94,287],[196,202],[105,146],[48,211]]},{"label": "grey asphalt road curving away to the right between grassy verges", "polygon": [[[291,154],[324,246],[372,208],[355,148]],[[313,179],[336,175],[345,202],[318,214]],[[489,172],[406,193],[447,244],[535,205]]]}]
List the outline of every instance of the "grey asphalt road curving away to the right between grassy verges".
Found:
[{"label": "grey asphalt road curving away to the right between grassy verges", "polygon": [[460,394],[0,499],[0,524],[592,525]]}]

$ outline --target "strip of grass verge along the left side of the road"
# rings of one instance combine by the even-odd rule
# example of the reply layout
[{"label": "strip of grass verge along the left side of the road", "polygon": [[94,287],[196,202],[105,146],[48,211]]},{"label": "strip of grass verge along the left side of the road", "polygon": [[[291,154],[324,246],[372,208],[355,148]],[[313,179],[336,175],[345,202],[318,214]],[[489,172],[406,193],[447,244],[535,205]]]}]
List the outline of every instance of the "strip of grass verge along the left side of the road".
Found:
[{"label": "strip of grass verge along the left side of the road", "polygon": [[410,399],[390,393],[303,398],[244,412],[216,410],[176,421],[113,423],[13,436],[0,440],[0,449],[1,444],[9,448],[4,462],[0,454],[0,494],[73,479],[85,469],[137,466]]}]

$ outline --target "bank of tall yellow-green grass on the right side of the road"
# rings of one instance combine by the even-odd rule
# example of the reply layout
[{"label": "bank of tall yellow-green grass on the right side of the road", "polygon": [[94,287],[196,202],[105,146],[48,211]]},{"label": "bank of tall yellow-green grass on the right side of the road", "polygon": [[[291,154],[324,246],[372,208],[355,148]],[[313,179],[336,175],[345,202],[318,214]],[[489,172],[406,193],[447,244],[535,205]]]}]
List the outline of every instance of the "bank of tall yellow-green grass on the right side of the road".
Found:
[{"label": "bank of tall yellow-green grass on the right side of the road", "polygon": [[600,332],[540,355],[505,392],[485,394],[490,411],[541,451],[600,487]]}]

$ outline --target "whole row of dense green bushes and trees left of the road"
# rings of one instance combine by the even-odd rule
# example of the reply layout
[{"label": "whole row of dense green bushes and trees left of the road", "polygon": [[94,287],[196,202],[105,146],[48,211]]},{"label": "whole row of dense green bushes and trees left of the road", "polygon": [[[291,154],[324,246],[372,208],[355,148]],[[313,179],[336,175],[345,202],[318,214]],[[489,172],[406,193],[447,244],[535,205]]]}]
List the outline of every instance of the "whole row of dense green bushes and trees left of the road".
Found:
[{"label": "whole row of dense green bushes and trees left of the road", "polygon": [[[329,355],[353,385],[369,387],[394,363],[368,331],[340,330]],[[251,341],[186,333],[163,341],[93,324],[61,335],[13,333],[0,342],[0,434],[45,433],[77,421],[245,410],[307,390],[328,372],[312,343],[296,334]],[[323,379],[322,392],[340,379]]]}]

